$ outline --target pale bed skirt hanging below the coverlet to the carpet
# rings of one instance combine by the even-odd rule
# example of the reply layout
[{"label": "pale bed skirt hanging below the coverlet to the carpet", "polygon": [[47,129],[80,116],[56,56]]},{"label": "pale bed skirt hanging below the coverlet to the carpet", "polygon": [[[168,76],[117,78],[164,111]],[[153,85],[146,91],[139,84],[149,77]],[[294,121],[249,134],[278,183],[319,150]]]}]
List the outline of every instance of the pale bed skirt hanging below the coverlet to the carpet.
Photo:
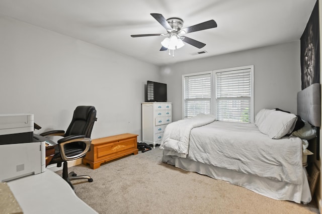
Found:
[{"label": "pale bed skirt hanging below the coverlet to the carpet", "polygon": [[286,183],[245,174],[229,169],[211,166],[187,158],[163,156],[163,162],[174,165],[190,172],[197,172],[211,178],[222,180],[230,184],[243,186],[258,194],[277,200],[290,200],[296,203],[309,203],[312,199],[307,181],[306,169],[303,167],[303,183],[301,185]]}]

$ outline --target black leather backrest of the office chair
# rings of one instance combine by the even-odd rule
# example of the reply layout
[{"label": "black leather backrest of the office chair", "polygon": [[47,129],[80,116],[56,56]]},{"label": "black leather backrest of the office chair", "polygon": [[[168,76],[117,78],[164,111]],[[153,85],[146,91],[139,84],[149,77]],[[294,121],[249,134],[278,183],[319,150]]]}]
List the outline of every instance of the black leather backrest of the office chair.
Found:
[{"label": "black leather backrest of the office chair", "polygon": [[90,138],[95,121],[96,109],[94,106],[77,106],[65,136],[85,135]]}]

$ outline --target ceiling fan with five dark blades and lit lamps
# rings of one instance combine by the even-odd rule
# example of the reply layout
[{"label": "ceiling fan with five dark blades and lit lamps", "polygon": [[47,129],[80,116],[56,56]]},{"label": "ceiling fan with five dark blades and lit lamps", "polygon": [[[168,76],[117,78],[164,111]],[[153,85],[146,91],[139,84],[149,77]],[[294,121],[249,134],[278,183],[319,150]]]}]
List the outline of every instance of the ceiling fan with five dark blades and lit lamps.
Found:
[{"label": "ceiling fan with five dark blades and lit lamps", "polygon": [[209,20],[207,22],[199,23],[184,29],[181,29],[183,26],[183,20],[177,17],[166,19],[162,14],[150,14],[156,21],[158,21],[166,30],[166,34],[137,34],[131,35],[131,37],[146,37],[146,36],[167,36],[162,42],[162,48],[160,51],[166,51],[169,49],[174,50],[184,46],[184,43],[188,43],[196,48],[203,48],[206,44],[199,42],[197,40],[191,39],[187,36],[180,34],[187,34],[195,31],[206,30],[210,28],[216,28],[217,23],[214,20]]}]

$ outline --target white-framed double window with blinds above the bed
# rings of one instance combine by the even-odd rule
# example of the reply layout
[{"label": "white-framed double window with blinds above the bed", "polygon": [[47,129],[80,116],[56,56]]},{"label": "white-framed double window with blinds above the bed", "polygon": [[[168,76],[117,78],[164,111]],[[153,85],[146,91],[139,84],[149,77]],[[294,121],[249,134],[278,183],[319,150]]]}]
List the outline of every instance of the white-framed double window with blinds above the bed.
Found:
[{"label": "white-framed double window with blinds above the bed", "polygon": [[204,113],[218,121],[252,123],[253,76],[253,65],[183,75],[183,117]]}]

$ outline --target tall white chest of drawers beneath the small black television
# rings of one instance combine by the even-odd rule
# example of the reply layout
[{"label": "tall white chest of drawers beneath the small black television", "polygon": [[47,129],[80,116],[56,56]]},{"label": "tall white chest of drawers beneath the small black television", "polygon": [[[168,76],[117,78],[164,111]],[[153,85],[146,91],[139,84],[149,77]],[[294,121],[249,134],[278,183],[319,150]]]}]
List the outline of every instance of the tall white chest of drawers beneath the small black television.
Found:
[{"label": "tall white chest of drawers beneath the small black television", "polygon": [[172,122],[171,102],[142,102],[142,142],[160,144],[167,124]]}]

